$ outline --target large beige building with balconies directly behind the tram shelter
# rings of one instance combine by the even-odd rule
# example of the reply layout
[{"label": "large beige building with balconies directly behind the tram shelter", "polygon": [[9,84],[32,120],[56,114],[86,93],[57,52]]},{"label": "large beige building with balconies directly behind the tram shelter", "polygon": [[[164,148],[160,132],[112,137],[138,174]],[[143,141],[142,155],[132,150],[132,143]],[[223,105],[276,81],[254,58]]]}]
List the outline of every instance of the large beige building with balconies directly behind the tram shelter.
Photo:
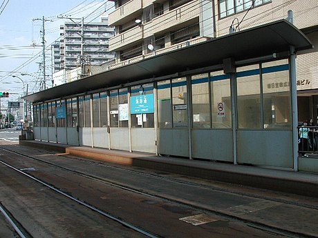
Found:
[{"label": "large beige building with balconies directly behind the tram shelter", "polygon": [[[109,24],[115,26],[115,37],[109,40],[115,64],[110,68],[222,37],[230,31],[287,19],[289,10],[294,26],[318,46],[315,0],[115,0],[115,10],[109,14]],[[272,83],[267,90],[277,90],[286,86],[284,83]],[[299,121],[318,117],[317,89],[318,51],[314,48],[297,57]]]}]

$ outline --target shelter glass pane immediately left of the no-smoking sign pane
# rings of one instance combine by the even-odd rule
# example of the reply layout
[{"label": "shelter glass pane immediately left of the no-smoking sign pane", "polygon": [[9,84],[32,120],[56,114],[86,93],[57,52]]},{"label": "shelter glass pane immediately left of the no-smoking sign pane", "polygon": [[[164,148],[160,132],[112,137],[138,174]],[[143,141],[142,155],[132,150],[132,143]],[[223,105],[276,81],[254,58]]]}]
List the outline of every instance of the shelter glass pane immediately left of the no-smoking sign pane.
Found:
[{"label": "shelter glass pane immediately left of the no-smoking sign pane", "polygon": [[209,75],[194,75],[192,86],[192,119],[194,128],[210,128]]}]

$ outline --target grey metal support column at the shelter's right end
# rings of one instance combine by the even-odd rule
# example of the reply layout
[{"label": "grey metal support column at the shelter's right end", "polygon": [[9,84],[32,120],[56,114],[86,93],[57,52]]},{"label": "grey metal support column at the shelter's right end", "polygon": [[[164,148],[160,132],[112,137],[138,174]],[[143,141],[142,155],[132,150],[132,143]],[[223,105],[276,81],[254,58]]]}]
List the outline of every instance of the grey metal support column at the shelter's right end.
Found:
[{"label": "grey metal support column at the shelter's right end", "polygon": [[298,108],[297,108],[297,79],[296,79],[296,52],[290,46],[290,91],[292,99],[292,156],[294,171],[298,171]]}]

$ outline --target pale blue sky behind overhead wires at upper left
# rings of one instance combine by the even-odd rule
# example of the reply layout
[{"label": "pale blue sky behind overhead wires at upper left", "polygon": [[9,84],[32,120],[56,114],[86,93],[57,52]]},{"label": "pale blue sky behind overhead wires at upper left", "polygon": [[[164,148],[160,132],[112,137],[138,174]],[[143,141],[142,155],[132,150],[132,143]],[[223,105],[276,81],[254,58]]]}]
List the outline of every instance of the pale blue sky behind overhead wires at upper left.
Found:
[{"label": "pale blue sky behind overhead wires at upper left", "polygon": [[[43,17],[47,20],[46,48],[50,49],[59,39],[59,26],[69,21],[58,17],[84,17],[84,22],[91,22],[113,11],[113,3],[105,0],[0,0],[0,6],[0,92],[10,93],[10,97],[1,98],[1,108],[6,108],[8,101],[17,101],[27,86],[29,94],[39,91]],[[52,74],[50,54],[47,50],[46,75]],[[50,79],[48,76],[47,88]]]}]

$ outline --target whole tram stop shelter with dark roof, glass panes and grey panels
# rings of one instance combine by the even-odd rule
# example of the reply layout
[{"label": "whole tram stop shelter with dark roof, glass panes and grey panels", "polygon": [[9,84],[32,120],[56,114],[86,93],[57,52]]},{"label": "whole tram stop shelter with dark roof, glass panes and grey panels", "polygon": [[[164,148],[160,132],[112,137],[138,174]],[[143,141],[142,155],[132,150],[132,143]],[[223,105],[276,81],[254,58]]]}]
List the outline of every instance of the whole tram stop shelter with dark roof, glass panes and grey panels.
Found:
[{"label": "whole tram stop shelter with dark roof, glass panes and grey panels", "polygon": [[295,58],[310,48],[279,20],[24,99],[40,141],[318,172],[297,144]]}]

